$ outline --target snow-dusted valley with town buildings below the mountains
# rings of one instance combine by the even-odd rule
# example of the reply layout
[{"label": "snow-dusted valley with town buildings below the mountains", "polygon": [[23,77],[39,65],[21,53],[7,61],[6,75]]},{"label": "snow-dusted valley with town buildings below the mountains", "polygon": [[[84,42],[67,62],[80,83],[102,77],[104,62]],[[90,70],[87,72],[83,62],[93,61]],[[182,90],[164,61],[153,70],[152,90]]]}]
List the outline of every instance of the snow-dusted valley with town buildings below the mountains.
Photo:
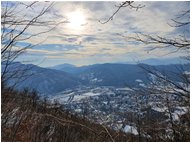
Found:
[{"label": "snow-dusted valley with town buildings below the mountains", "polygon": [[[145,119],[148,112],[155,121],[169,120],[168,108],[164,106],[161,94],[141,95],[133,89],[83,86],[49,96],[49,100],[57,102],[64,109],[81,117],[135,135],[138,133],[135,129],[136,124],[130,120],[131,116],[139,115],[141,119]],[[175,101],[176,97],[171,95],[170,99]],[[187,111],[189,110],[186,107],[175,105],[171,114],[173,119],[178,121]]]}]

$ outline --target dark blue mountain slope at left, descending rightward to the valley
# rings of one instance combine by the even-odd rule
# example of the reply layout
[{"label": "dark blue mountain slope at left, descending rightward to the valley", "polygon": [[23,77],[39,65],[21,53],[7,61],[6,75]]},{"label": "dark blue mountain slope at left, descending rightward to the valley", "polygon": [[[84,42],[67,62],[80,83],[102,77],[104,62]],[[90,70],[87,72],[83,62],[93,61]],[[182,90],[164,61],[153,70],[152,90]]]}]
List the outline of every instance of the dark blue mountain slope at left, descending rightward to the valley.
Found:
[{"label": "dark blue mountain slope at left, descending rightward to the valley", "polygon": [[17,89],[30,88],[42,94],[52,94],[81,85],[81,80],[69,73],[41,68],[32,64],[24,65],[16,63],[10,66],[8,70],[12,72],[13,70],[26,70],[27,72],[27,75],[9,80],[9,85],[13,85],[19,81],[19,83],[16,83]]}]

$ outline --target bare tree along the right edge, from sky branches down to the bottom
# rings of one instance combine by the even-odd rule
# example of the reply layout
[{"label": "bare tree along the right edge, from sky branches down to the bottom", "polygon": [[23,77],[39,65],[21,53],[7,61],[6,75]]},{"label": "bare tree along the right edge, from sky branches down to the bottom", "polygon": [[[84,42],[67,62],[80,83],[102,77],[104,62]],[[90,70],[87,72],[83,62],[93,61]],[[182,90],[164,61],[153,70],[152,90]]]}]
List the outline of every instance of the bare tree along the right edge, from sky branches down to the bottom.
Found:
[{"label": "bare tree along the right edge, from sky branches down to the bottom", "polygon": [[[113,16],[122,8],[122,4],[130,2],[121,3],[119,9],[105,22],[109,22],[113,19]],[[161,36],[161,35],[151,35],[146,33],[134,33],[134,36],[123,36],[127,39],[127,41],[135,41],[140,42],[145,45],[148,45],[151,50],[159,49],[159,48],[172,48],[175,49],[174,52],[178,52],[180,50],[186,51],[186,55],[183,58],[189,59],[190,52],[190,10],[184,10],[182,13],[171,20],[172,22],[169,24],[174,28],[183,28],[182,33],[173,34],[172,37],[169,36]],[[170,53],[169,53],[170,54]],[[186,67],[189,64],[185,65]],[[152,140],[158,141],[188,141],[190,132],[189,120],[190,120],[190,77],[189,72],[187,72],[182,66],[178,73],[171,72],[170,76],[173,75],[175,77],[180,78],[180,81],[173,80],[168,74],[161,72],[150,66],[140,65],[147,74],[154,77],[153,80],[150,80],[150,84],[145,87],[141,87],[140,89],[134,90],[139,94],[149,94],[151,97],[157,96],[159,101],[162,104],[162,107],[165,107],[165,115],[168,116],[168,120],[165,122],[155,123],[156,127],[151,123],[146,123],[146,125],[142,126],[142,131],[147,132],[152,137]],[[158,108],[161,106],[158,106]],[[177,107],[185,107],[186,112],[184,115],[179,115],[179,120],[175,120],[174,110]],[[184,121],[184,118],[186,121]],[[144,127],[144,128],[143,128]],[[171,132],[166,132],[167,131]],[[153,133],[152,133],[152,132]],[[150,133],[151,132],[151,133]],[[166,134],[167,133],[167,134]]]}]

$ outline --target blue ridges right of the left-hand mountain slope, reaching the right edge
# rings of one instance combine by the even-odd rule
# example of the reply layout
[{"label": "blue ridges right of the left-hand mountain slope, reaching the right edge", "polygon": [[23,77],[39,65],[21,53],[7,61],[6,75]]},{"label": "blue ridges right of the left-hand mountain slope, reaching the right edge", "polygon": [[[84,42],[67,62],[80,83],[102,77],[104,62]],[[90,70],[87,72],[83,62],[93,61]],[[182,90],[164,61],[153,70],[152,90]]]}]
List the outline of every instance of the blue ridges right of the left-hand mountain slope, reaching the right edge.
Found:
[{"label": "blue ridges right of the left-hand mountain slope, reaching the right edge", "polygon": [[[170,79],[180,81],[178,73],[190,71],[189,66],[182,64],[151,66],[140,64],[141,67],[158,70]],[[60,70],[78,76],[88,85],[99,86],[134,86],[140,82],[149,83],[150,75],[137,64],[95,64],[82,67],[68,67]]]}]

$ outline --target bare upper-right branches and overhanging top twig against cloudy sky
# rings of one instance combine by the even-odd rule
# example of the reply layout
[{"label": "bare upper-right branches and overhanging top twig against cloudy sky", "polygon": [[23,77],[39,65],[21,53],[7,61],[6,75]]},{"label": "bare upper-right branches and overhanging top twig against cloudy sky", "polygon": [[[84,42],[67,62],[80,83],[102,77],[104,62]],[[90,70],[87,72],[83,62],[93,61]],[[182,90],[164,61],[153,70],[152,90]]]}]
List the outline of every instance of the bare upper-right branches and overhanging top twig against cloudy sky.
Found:
[{"label": "bare upper-right branches and overhanging top twig against cloudy sky", "polygon": [[[113,20],[113,17],[120,11],[120,9],[128,7],[131,9],[141,9],[145,7],[145,5],[141,4],[135,4],[134,1],[125,1],[119,4],[117,7],[117,10],[106,20],[105,22],[101,22],[102,24],[106,24],[110,20]],[[138,33],[136,36],[126,36],[128,40],[134,40],[139,41],[144,44],[151,44],[152,47],[176,47],[178,49],[189,49],[190,48],[190,39],[189,39],[189,33],[190,33],[190,10],[184,10],[183,12],[180,12],[179,15],[175,19],[171,19],[172,23],[169,25],[172,27],[185,27],[183,30],[183,34],[179,34],[176,37],[168,38],[163,36],[153,36],[146,33]]]}]

